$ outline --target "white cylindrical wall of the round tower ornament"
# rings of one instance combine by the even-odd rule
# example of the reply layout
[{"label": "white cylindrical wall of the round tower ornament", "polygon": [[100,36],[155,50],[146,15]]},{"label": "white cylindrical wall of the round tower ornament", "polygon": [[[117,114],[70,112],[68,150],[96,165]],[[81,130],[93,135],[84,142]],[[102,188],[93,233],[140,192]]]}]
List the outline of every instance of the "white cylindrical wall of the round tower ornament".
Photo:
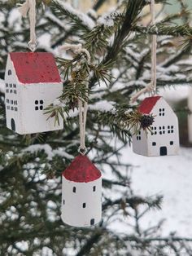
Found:
[{"label": "white cylindrical wall of the round tower ornament", "polygon": [[[96,191],[93,187],[96,186]],[[76,187],[76,192],[72,192]],[[63,204],[64,200],[64,204]],[[75,227],[90,226],[102,218],[102,178],[89,183],[75,183],[62,177],[62,214],[63,223]],[[86,204],[83,208],[83,203]]]}]

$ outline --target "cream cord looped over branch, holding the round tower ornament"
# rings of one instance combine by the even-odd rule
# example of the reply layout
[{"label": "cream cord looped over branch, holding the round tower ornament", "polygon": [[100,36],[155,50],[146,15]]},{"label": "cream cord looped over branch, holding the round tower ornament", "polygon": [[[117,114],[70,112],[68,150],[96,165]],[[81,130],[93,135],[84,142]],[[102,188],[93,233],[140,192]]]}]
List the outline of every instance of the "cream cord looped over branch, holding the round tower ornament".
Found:
[{"label": "cream cord looped over branch, holding the round tower ornament", "polygon": [[[60,46],[59,50],[71,50],[75,54],[85,53],[87,56],[87,62],[90,63],[91,57],[89,51],[82,47],[81,44],[71,45],[65,44],[64,46]],[[87,79],[88,80],[88,79]],[[86,86],[86,97],[88,97],[88,89],[89,89],[89,82],[85,82]],[[80,147],[78,152],[81,155],[85,155],[87,152],[87,148],[85,146],[85,128],[86,128],[86,118],[87,118],[87,110],[88,110],[88,103],[85,100],[78,99],[78,107],[79,107],[79,122],[80,122]]]}]

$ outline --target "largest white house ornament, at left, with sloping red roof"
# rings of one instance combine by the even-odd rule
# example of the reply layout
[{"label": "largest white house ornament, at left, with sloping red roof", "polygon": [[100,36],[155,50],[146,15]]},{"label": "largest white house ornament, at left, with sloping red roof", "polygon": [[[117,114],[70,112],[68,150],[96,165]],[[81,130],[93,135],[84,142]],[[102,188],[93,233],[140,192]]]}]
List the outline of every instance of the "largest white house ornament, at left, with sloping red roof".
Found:
[{"label": "largest white house ornament, at left, with sloping red roof", "polygon": [[43,109],[62,94],[55,58],[47,52],[11,52],[6,67],[7,127],[20,135],[63,129]]}]

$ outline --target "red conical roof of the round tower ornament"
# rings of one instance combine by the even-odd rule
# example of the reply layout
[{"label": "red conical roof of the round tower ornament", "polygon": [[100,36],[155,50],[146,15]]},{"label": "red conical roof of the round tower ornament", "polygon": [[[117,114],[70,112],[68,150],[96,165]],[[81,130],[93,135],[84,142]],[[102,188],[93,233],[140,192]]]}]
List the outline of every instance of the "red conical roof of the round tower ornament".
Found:
[{"label": "red conical roof of the round tower ornament", "polygon": [[76,183],[88,183],[99,179],[101,172],[89,161],[86,156],[79,155],[71,163],[66,170],[63,171],[65,179]]}]

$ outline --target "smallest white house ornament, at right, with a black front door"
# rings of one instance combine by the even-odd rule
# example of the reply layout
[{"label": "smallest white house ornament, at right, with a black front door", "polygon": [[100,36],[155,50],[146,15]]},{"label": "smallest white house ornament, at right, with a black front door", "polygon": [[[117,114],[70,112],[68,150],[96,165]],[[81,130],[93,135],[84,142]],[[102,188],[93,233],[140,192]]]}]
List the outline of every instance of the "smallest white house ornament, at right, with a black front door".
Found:
[{"label": "smallest white house ornament, at right, with a black front door", "polygon": [[178,119],[161,96],[144,99],[138,107],[144,115],[152,114],[154,122],[149,130],[141,129],[133,135],[133,152],[148,157],[177,155],[179,151]]}]

